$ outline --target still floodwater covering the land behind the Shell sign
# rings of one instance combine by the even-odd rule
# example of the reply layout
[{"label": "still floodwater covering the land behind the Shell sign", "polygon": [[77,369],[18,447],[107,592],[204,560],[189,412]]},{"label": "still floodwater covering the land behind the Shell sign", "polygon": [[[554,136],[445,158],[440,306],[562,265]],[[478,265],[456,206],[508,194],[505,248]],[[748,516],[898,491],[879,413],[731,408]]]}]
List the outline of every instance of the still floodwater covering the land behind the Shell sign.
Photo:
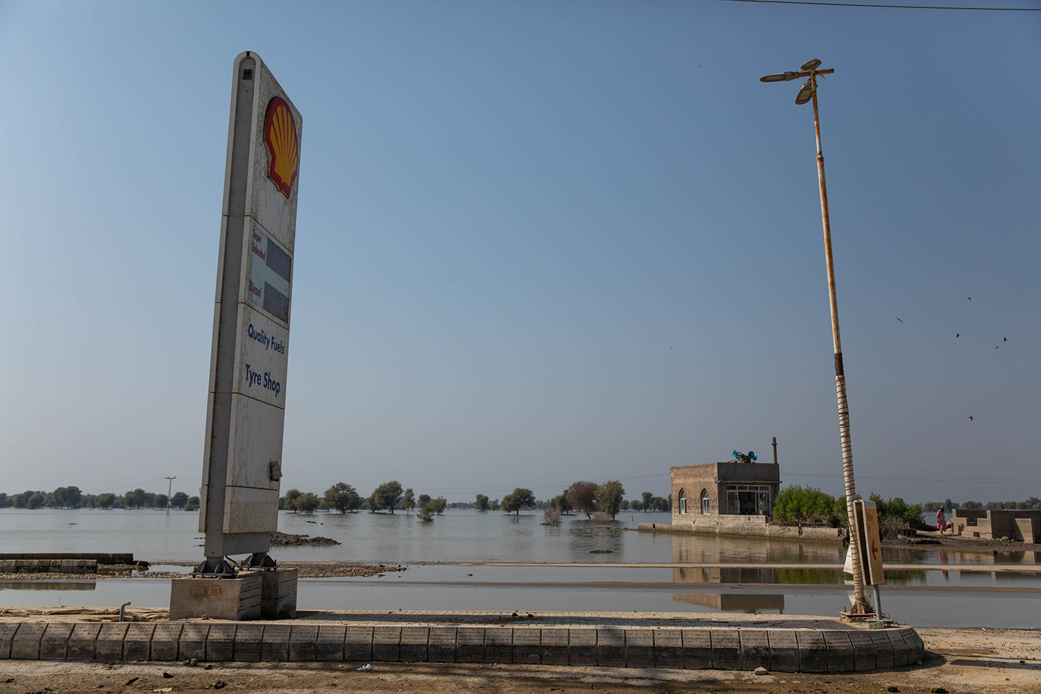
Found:
[{"label": "still floodwater covering the land behind the Shell sign", "polygon": [[[759,612],[834,615],[852,588],[841,571],[812,568],[842,562],[830,542],[709,535],[638,533],[639,522],[666,523],[667,514],[625,513],[613,523],[584,516],[541,525],[541,512],[446,511],[433,523],[414,515],[281,513],[285,533],[331,537],[328,547],[276,547],[284,561],[363,561],[408,565],[405,571],[360,579],[301,580],[300,609]],[[132,551],[163,566],[202,558],[198,514],[183,511],[0,510],[0,552]],[[1037,552],[884,548],[883,609],[920,626],[1036,627],[1041,614]],[[482,566],[529,562],[603,566]],[[701,563],[709,567],[635,567],[634,563]],[[1022,564],[1022,571],[988,565]],[[740,566],[727,566],[739,564]],[[763,564],[803,564],[770,568]],[[949,564],[959,569],[932,567]],[[962,567],[971,566],[971,570]],[[931,568],[924,568],[931,567]],[[145,574],[147,575],[147,574]],[[106,607],[131,600],[164,606],[170,582],[0,581],[0,605]]]}]

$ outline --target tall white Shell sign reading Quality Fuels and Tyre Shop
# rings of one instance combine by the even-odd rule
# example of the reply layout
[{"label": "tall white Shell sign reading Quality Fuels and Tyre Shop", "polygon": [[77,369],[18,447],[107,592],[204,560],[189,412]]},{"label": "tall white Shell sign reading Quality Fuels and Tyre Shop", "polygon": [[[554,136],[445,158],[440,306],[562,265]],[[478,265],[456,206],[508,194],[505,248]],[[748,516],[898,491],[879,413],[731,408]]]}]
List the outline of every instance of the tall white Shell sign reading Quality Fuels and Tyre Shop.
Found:
[{"label": "tall white Shell sign reading Quality Fuels and Tyre Shop", "polygon": [[198,573],[233,572],[224,558],[271,566],[297,234],[303,118],[260,57],[234,61],[213,309]]}]

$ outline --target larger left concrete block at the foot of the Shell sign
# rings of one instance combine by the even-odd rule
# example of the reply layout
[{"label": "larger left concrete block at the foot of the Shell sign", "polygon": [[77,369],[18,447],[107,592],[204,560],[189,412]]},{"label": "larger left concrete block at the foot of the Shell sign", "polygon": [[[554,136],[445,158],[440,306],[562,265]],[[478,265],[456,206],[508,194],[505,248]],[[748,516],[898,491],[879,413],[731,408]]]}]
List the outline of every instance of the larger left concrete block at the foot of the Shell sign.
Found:
[{"label": "larger left concrete block at the foot of the Shell sign", "polygon": [[[296,610],[296,571],[294,610]],[[243,572],[237,579],[174,579],[170,588],[170,619],[259,619],[263,582],[258,572]]]}]

